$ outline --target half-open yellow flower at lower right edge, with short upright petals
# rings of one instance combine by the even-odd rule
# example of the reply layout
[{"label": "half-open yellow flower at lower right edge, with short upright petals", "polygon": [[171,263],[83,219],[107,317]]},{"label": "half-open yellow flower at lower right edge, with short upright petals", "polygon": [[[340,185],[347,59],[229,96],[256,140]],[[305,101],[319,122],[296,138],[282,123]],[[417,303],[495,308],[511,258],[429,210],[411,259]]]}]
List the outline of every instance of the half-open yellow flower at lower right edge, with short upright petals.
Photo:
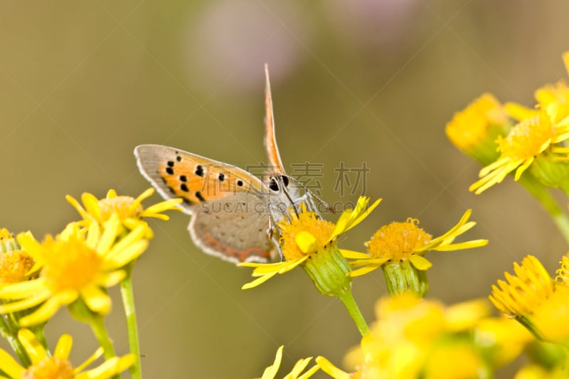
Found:
[{"label": "half-open yellow flower at lower right edge, with short upright petals", "polygon": [[514,273],[492,286],[492,303],[543,341],[568,343],[569,286],[555,282],[531,255],[514,263]]}]

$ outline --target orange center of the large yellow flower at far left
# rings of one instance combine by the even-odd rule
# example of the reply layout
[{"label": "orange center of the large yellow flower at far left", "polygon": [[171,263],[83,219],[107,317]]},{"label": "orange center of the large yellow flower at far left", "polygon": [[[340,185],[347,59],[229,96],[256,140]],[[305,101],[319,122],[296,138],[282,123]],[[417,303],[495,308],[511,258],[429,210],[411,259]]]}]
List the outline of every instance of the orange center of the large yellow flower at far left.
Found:
[{"label": "orange center of the large yellow flower at far left", "polygon": [[41,272],[48,287],[53,292],[65,289],[78,291],[92,282],[102,265],[97,252],[76,236],[63,242],[48,238],[44,242],[46,263]]}]

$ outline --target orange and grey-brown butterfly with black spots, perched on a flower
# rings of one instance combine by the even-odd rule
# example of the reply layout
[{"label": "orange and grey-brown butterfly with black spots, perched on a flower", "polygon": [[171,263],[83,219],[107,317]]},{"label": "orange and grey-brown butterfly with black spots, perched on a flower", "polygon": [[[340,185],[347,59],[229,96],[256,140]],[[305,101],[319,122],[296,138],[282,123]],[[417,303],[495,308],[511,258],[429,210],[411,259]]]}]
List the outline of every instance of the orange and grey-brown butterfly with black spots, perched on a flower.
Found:
[{"label": "orange and grey-brown butterfly with black spots, perched on a flower", "polygon": [[[165,199],[182,198],[188,230],[204,252],[233,262],[270,262],[280,256],[275,227],[316,198],[285,173],[275,139],[269,71],[265,65],[265,147],[270,170],[264,180],[220,161],[156,144],[134,149],[142,175]],[[325,203],[324,203],[325,204]],[[319,213],[318,213],[319,214]]]}]

